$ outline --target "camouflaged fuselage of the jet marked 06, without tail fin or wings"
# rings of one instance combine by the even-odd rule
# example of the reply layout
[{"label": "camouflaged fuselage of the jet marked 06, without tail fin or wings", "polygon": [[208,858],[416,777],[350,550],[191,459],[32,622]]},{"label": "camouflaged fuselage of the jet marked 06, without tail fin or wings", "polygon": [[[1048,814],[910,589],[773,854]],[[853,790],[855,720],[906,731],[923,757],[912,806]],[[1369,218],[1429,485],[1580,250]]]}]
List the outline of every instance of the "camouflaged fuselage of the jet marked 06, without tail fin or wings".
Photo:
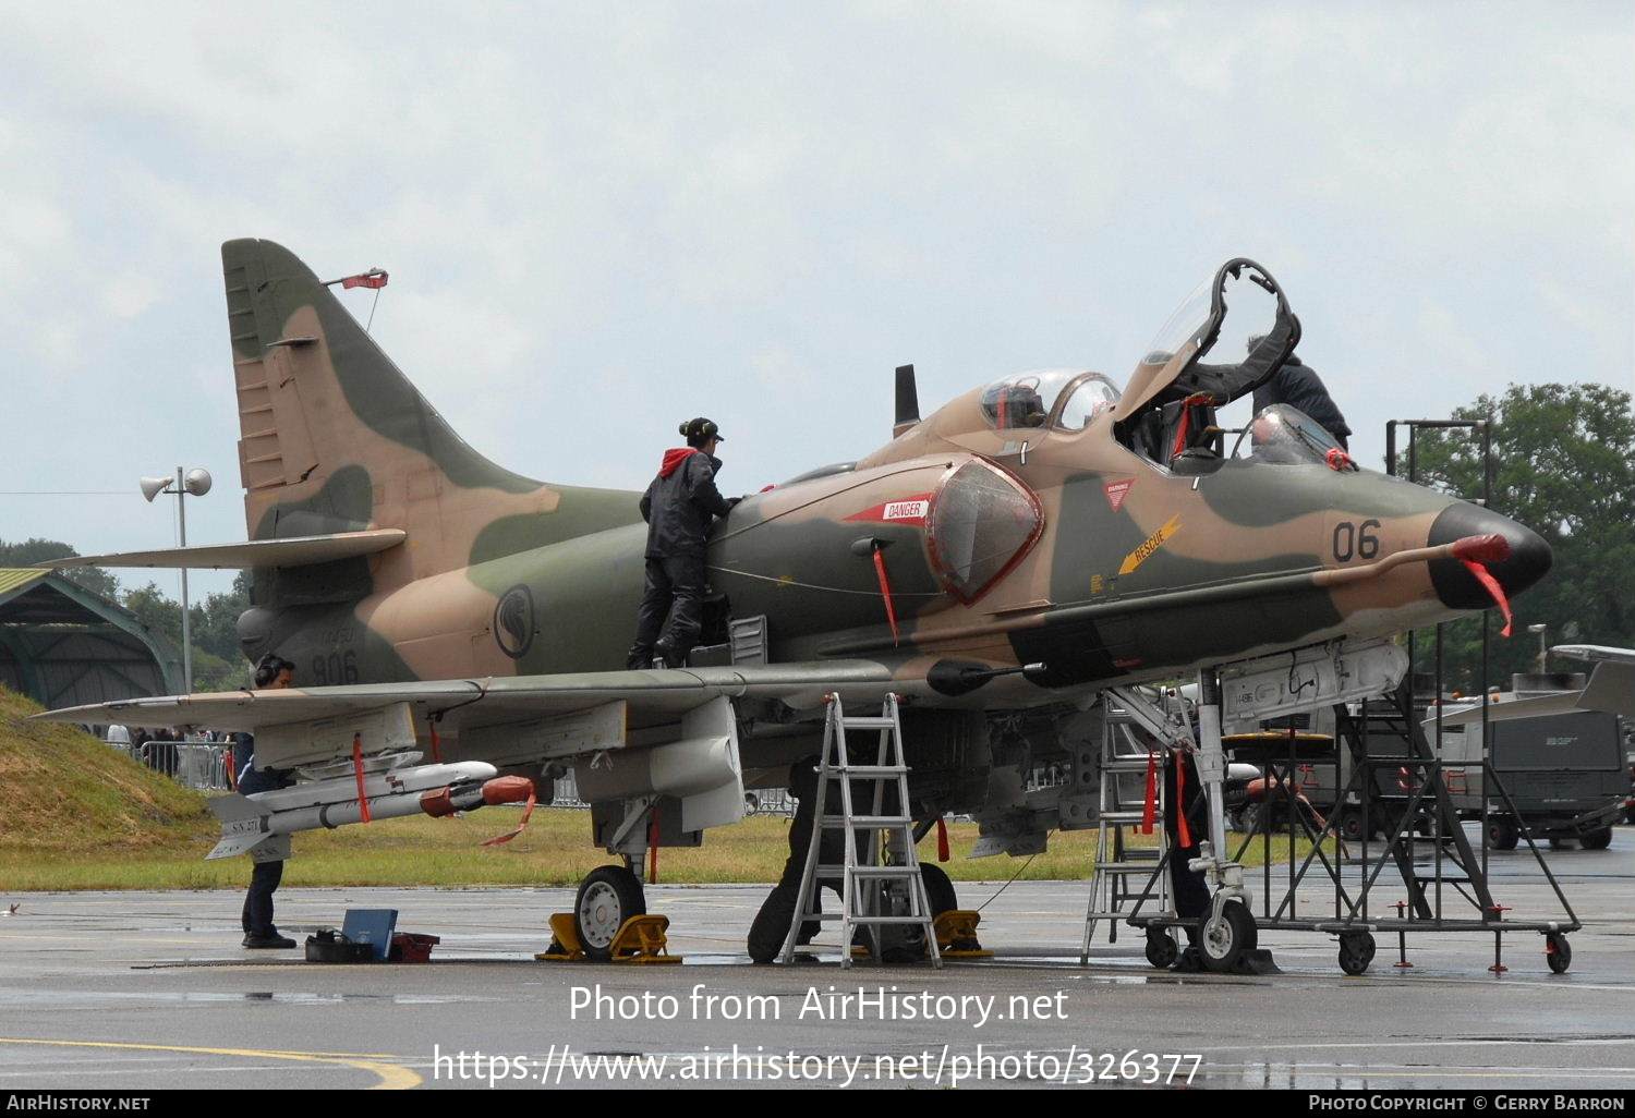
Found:
[{"label": "camouflaged fuselage of the jet marked 06, without tail fin or wings", "polygon": [[[626,523],[257,624],[311,685],[615,670],[646,528],[636,494],[584,500]],[[1249,456],[1179,472],[1120,443],[1105,414],[1004,430],[971,394],[857,464],[746,499],[708,562],[716,619],[765,618],[772,660],[1043,665],[996,688],[1025,704],[1481,608],[1468,575],[1439,580],[1427,562],[1315,579],[1476,533],[1532,556],[1512,590],[1548,562],[1496,513],[1349,464]]]}]

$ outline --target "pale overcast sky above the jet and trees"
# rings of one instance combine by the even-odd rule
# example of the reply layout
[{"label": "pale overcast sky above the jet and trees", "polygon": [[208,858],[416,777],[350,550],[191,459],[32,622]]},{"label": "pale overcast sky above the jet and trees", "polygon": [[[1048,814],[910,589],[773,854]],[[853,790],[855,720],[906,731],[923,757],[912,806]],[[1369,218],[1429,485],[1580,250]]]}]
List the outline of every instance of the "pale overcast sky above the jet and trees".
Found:
[{"label": "pale overcast sky above the jet and trees", "polygon": [[726,492],[883,443],[899,363],[927,412],[1123,381],[1246,255],[1377,467],[1390,418],[1635,389],[1632,78],[1628,0],[0,0],[0,489],[93,490],[0,538],[168,546],[178,464],[190,543],[244,538],[234,237],[387,268],[374,337],[495,461],[641,489],[705,414]]}]

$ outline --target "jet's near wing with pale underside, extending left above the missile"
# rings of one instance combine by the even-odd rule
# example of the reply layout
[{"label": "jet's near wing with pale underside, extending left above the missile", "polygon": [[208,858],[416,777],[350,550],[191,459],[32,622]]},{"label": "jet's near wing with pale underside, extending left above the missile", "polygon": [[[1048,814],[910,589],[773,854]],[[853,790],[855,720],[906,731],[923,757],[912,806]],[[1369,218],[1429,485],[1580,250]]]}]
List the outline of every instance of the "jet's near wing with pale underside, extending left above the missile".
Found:
[{"label": "jet's near wing with pale underside, extending left above the missile", "polygon": [[[574,762],[584,799],[675,796],[682,827],[701,830],[744,816],[732,700],[818,709],[832,690],[863,703],[924,688],[922,678],[894,680],[871,660],[822,660],[172,695],[34,718],[253,731],[258,765],[299,768],[311,781],[293,793],[299,803],[280,824],[286,830],[350,822],[335,812],[352,811],[360,781],[410,750],[425,755],[427,747],[433,760],[427,771],[438,775],[450,770],[446,762],[482,762],[490,771],[513,768],[530,776],[544,765]],[[386,812],[419,799],[391,793],[371,794],[370,803]],[[255,822],[252,830],[263,827]]]}]

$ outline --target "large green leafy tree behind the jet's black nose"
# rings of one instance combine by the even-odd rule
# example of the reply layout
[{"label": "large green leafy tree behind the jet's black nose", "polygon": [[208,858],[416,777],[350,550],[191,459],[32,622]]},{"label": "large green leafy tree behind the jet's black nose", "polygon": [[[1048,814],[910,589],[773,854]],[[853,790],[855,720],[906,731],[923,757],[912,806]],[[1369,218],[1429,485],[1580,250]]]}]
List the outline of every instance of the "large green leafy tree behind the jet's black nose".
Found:
[{"label": "large green leafy tree behind the jet's black nose", "polygon": [[[1512,603],[1512,637],[1493,639],[1488,685],[1537,670],[1529,624],[1547,624],[1550,642],[1635,647],[1635,414],[1630,394],[1602,384],[1512,384],[1483,396],[1454,418],[1493,423],[1494,512],[1527,525],[1555,549],[1543,580]],[[1481,438],[1468,430],[1416,436],[1418,481],[1467,499],[1481,497]],[[1494,626],[1494,634],[1498,626]],[[1416,651],[1429,670],[1431,641]],[[1449,686],[1483,680],[1481,619],[1444,629]],[[1568,669],[1571,665],[1550,667]]]}]

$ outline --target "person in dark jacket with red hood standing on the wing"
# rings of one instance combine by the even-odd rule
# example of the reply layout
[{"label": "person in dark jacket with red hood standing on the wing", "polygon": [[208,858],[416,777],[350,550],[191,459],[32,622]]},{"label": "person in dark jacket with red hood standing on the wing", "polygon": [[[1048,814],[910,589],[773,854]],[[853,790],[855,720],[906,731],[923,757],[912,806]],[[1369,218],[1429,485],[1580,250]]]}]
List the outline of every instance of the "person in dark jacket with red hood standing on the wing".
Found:
[{"label": "person in dark jacket with red hood standing on the wing", "polygon": [[682,423],[680,432],[687,446],[664,451],[659,476],[641,497],[647,588],[636,618],[636,642],[625,659],[633,670],[652,667],[654,655],[664,667],[687,664],[703,623],[705,539],[714,518],[726,517],[737,503],[723,499],[714,484],[721,472],[721,459],[714,456],[716,445],[724,441],[721,428],[700,415]]}]

